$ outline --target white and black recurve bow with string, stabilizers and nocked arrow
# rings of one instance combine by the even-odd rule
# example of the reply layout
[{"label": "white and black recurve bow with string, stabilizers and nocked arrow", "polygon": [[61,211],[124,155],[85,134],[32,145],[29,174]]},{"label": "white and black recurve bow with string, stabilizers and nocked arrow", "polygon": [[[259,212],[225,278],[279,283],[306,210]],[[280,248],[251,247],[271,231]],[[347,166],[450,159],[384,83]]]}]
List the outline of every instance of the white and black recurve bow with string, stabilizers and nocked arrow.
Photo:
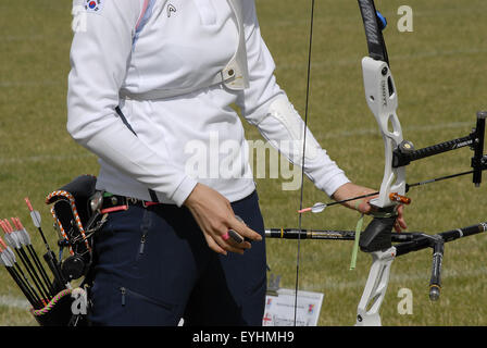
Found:
[{"label": "white and black recurve bow with string, stabilizers and nocked arrow", "polygon": [[[473,174],[473,183],[475,186],[478,187],[480,185],[482,172],[487,169],[487,156],[484,154],[485,120],[487,117],[487,112],[484,111],[477,113],[476,127],[467,136],[419,150],[414,149],[411,141],[404,140],[401,124],[397,115],[398,95],[390,71],[389,58],[383,36],[383,30],[387,26],[387,21],[379,12],[376,11],[373,0],[358,0],[358,2],[362,14],[369,48],[369,57],[362,59],[365,99],[369,108],[377,121],[385,148],[385,167],[380,190],[369,195],[349,198],[342,201],[332,203],[319,202],[311,208],[303,208],[303,182],[301,182],[301,202],[298,211],[299,227],[266,229],[266,237],[298,239],[295,300],[295,306],[297,306],[300,240],[351,240],[358,237],[358,234],[352,231],[302,229],[302,213],[308,211],[320,213],[323,212],[325,208],[330,206],[377,196],[370,200],[370,204],[376,207],[378,213],[374,215],[373,221],[367,225],[365,231],[360,234],[360,249],[364,252],[369,252],[373,259],[373,262],[365,284],[365,289],[359,302],[355,325],[380,325],[379,309],[387,290],[390,266],[395,258],[411,251],[432,248],[434,252],[429,298],[432,300],[437,300],[440,294],[440,272],[445,243],[487,231],[487,223],[484,222],[473,226],[452,229],[436,235],[428,235],[425,233],[392,234],[392,226],[397,219],[397,207],[401,203],[409,204],[411,202],[409,198],[404,197],[405,192],[408,192],[410,188],[470,174]],[[304,114],[305,125],[308,124],[313,12],[314,1],[312,1],[311,4],[308,88]],[[436,177],[414,184],[407,183],[405,166],[412,161],[457,150],[463,147],[470,147],[474,151],[474,156],[471,161],[471,171]],[[305,141],[303,142],[303,153],[305,153]],[[303,169],[304,156],[302,170]],[[396,243],[396,245],[392,245],[392,243]]]}]

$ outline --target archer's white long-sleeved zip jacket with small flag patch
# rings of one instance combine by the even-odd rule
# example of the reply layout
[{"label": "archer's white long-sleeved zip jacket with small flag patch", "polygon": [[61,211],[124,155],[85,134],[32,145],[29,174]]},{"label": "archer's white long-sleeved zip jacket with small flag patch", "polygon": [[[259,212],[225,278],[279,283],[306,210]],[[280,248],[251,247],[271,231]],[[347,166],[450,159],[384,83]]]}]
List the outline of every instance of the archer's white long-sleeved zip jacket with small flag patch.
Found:
[{"label": "archer's white long-sleeved zip jacket with small flag patch", "polygon": [[[301,163],[299,147],[280,146],[299,141],[304,125],[276,84],[253,0],[74,5],[86,30],[73,38],[67,130],[99,157],[97,188],[177,206],[198,182],[230,201],[250,195],[249,145],[233,104]],[[309,130],[307,141],[305,174],[329,196],[349,181]]]}]

